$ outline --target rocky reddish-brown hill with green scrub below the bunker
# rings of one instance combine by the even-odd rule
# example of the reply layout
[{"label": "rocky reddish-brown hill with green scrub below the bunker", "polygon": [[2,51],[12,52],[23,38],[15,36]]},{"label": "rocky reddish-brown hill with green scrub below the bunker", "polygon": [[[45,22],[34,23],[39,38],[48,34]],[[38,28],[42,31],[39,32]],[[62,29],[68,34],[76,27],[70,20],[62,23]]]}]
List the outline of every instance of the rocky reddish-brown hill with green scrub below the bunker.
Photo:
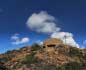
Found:
[{"label": "rocky reddish-brown hill with green scrub below the bunker", "polygon": [[8,51],[0,55],[0,70],[86,70],[86,49],[62,46],[54,52],[38,44]]}]

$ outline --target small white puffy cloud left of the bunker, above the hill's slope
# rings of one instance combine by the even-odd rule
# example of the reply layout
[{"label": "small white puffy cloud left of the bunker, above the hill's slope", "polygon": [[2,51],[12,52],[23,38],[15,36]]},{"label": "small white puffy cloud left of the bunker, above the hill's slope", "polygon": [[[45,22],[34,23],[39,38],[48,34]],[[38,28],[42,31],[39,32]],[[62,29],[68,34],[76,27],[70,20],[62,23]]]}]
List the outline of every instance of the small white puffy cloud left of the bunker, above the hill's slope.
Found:
[{"label": "small white puffy cloud left of the bunker, above the hill's slope", "polygon": [[20,38],[19,34],[14,34],[11,37],[11,40],[12,40],[12,44],[14,44],[14,45],[23,44],[23,43],[27,43],[30,41],[30,39],[28,37]]}]

